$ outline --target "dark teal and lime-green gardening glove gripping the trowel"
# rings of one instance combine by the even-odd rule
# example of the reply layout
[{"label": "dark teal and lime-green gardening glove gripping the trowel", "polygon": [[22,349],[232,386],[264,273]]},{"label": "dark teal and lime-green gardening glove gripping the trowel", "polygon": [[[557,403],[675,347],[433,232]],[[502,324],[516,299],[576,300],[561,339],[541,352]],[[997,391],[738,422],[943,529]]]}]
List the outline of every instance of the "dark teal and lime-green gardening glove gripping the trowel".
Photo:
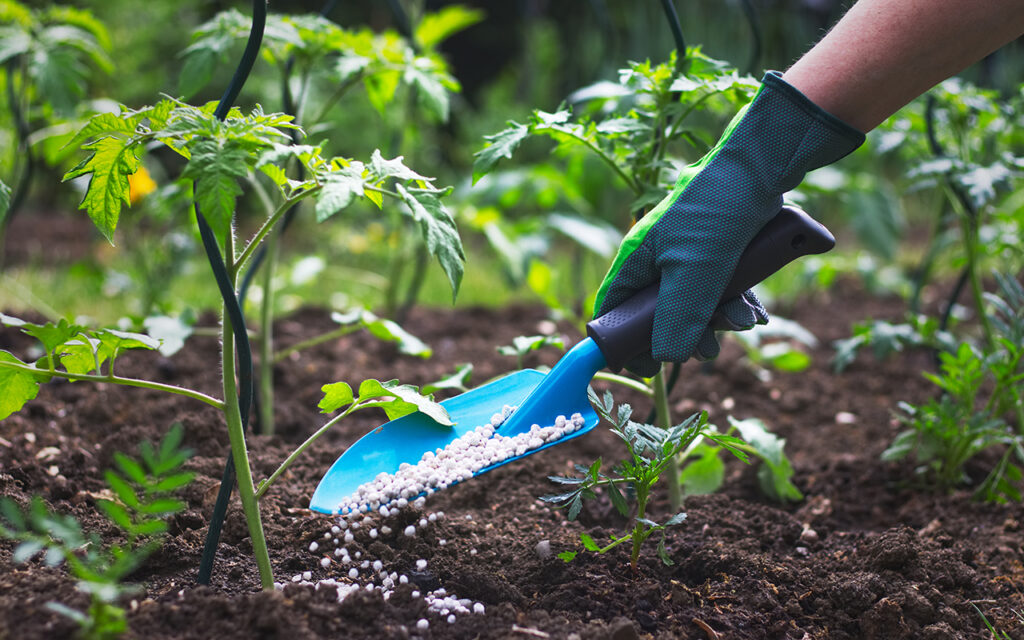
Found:
[{"label": "dark teal and lime-green gardening glove gripping the trowel", "polygon": [[769,72],[707,156],[623,240],[597,294],[595,317],[660,280],[651,351],[627,364],[657,373],[660,361],[712,358],[716,310],[730,329],[768,322],[750,291],[719,304],[746,245],[804,175],[843,158],[864,134]]}]

